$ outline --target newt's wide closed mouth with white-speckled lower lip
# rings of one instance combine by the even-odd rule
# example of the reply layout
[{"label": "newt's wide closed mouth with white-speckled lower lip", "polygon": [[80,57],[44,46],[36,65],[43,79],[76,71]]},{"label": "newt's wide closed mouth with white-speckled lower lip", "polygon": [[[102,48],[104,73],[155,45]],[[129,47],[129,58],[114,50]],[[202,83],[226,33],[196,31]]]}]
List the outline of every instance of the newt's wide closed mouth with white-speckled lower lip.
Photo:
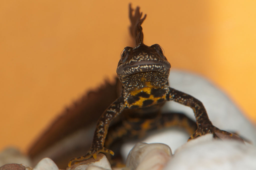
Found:
[{"label": "newt's wide closed mouth with white-speckled lower lip", "polygon": [[117,67],[116,73],[117,74],[134,74],[138,72],[149,72],[149,71],[156,71],[156,72],[164,72],[169,70],[171,67],[168,61],[159,62],[159,61],[139,61],[135,63],[131,63],[128,65],[121,64]]}]

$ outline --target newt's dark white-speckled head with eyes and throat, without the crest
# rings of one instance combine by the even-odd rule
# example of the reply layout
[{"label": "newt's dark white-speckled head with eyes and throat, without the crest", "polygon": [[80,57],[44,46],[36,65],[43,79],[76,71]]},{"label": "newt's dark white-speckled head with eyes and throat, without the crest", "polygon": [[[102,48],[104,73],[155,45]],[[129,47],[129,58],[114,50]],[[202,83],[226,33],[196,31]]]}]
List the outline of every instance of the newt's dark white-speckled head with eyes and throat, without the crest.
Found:
[{"label": "newt's dark white-speckled head with eyes and throat, without the crest", "polygon": [[168,82],[170,63],[158,45],[125,47],[120,55],[116,73],[128,91],[144,87],[162,88]]}]

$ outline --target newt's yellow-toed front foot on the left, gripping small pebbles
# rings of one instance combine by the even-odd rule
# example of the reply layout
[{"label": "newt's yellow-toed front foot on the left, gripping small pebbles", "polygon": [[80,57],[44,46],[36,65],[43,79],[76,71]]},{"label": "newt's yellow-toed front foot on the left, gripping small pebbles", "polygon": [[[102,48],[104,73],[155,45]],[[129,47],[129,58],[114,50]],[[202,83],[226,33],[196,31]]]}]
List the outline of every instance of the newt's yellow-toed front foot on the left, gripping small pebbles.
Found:
[{"label": "newt's yellow-toed front foot on the left, gripping small pebbles", "polygon": [[77,158],[72,158],[69,163],[68,163],[68,167],[70,167],[71,165],[73,164],[77,164],[79,162],[82,162],[82,161],[85,161],[85,160],[88,160],[90,159],[91,157],[93,157],[95,160],[97,159],[97,155],[99,153],[110,153],[111,155],[114,155],[114,152],[109,150],[109,149],[106,149],[106,148],[97,148],[97,149],[90,149],[89,152],[87,152],[84,156],[79,156]]}]

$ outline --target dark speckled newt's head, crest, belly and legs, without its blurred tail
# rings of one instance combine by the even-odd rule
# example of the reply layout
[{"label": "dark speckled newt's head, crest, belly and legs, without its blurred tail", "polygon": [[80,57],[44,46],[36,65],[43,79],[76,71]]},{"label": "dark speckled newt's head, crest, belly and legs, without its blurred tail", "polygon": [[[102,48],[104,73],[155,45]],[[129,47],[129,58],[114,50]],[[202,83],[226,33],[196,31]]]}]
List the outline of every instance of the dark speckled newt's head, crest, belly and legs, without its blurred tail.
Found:
[{"label": "dark speckled newt's head, crest, belly and legs, without its blurred tail", "polygon": [[[136,45],[134,48],[125,47],[120,54],[116,73],[122,84],[121,96],[98,119],[89,151],[84,156],[72,158],[68,166],[91,157],[96,159],[99,153],[114,155],[114,152],[107,146],[110,146],[116,139],[124,136],[141,137],[148,130],[173,125],[187,126],[187,129],[194,131],[191,132],[192,135],[188,140],[211,133],[214,138],[243,141],[237,135],[215,127],[209,120],[201,101],[169,86],[168,76],[171,65],[165,57],[163,48],[158,44],[147,46],[143,43],[141,24],[146,15],[142,17],[139,7],[133,15],[134,9],[131,4],[129,9],[130,31]],[[183,114],[161,115],[161,107],[166,101],[175,101],[193,109],[196,124],[191,123],[191,120]],[[111,122],[120,114],[124,114],[127,118],[123,126],[115,127],[108,134]],[[178,119],[173,119],[173,117],[178,117]],[[142,118],[144,120],[141,120]],[[184,120],[186,123],[178,123],[177,120]]]}]

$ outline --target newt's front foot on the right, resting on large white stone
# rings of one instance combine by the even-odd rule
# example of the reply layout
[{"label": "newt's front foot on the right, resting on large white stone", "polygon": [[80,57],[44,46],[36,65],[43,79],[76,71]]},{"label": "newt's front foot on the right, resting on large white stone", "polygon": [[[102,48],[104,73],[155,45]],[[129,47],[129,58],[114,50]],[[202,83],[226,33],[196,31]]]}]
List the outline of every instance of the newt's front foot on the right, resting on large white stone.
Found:
[{"label": "newt's front foot on the right, resting on large white stone", "polygon": [[197,130],[195,131],[195,133],[189,137],[188,141],[190,141],[191,139],[194,139],[196,137],[202,136],[204,134],[207,134],[207,133],[213,134],[214,138],[233,139],[233,140],[238,140],[240,142],[244,142],[244,140],[242,138],[240,138],[237,134],[230,133],[225,130],[220,130],[213,125],[209,125],[206,127],[198,127]]}]

